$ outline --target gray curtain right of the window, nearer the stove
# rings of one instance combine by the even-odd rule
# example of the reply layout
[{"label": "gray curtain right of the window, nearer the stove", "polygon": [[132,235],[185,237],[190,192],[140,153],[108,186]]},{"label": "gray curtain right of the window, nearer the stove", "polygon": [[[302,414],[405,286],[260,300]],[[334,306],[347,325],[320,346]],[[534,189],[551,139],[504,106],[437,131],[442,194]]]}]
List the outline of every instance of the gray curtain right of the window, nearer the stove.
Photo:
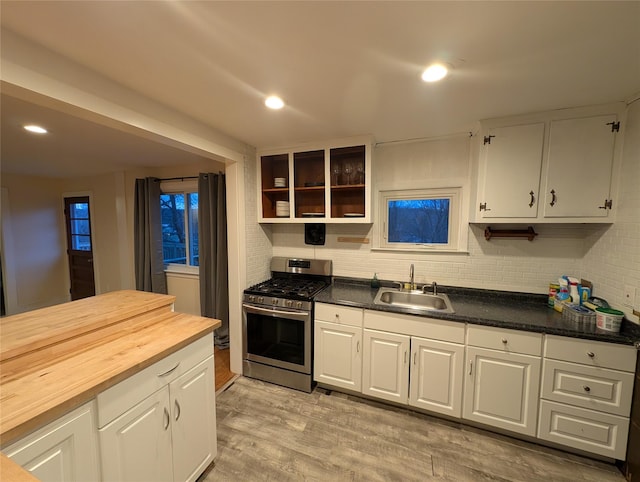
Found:
[{"label": "gray curtain right of the window, nearer the stove", "polygon": [[224,174],[198,176],[200,312],[222,321],[214,334],[218,348],[229,348],[229,269]]}]

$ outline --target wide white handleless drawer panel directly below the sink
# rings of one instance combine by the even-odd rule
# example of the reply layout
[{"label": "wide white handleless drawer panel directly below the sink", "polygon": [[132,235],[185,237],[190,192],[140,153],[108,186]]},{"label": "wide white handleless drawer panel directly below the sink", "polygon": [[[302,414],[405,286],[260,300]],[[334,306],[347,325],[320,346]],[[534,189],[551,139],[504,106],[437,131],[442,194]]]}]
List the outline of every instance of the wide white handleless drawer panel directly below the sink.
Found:
[{"label": "wide white handleless drawer panel directly below the sink", "polygon": [[364,327],[432,340],[464,343],[465,325],[456,321],[365,310]]}]

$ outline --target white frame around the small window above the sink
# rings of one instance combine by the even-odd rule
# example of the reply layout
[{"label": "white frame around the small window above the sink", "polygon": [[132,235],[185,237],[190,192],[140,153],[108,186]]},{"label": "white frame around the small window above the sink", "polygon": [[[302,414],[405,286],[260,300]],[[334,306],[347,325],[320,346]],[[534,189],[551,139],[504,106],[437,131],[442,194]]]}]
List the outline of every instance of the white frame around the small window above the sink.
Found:
[{"label": "white frame around the small window above the sink", "polygon": [[[389,201],[416,199],[449,199],[449,233],[447,243],[391,243],[389,238]],[[424,253],[467,252],[465,217],[463,216],[464,189],[460,185],[444,187],[389,188],[377,191],[377,234],[374,250]]]}]

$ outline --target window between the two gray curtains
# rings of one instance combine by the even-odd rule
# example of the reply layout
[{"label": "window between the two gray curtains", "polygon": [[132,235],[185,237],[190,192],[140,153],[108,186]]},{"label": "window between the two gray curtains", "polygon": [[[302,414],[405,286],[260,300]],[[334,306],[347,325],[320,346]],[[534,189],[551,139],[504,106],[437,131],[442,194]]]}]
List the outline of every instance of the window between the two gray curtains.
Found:
[{"label": "window between the two gray curtains", "polygon": [[199,266],[198,193],[163,192],[160,212],[165,265]]}]

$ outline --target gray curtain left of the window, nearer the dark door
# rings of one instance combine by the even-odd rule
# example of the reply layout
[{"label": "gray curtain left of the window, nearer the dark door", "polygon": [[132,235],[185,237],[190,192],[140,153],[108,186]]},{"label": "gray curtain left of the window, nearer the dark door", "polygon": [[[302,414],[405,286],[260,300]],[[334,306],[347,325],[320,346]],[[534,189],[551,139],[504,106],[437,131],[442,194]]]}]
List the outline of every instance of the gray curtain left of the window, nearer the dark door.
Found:
[{"label": "gray curtain left of the window, nearer the dark door", "polygon": [[136,289],[167,292],[162,254],[160,182],[155,177],[136,179],[133,215]]}]

